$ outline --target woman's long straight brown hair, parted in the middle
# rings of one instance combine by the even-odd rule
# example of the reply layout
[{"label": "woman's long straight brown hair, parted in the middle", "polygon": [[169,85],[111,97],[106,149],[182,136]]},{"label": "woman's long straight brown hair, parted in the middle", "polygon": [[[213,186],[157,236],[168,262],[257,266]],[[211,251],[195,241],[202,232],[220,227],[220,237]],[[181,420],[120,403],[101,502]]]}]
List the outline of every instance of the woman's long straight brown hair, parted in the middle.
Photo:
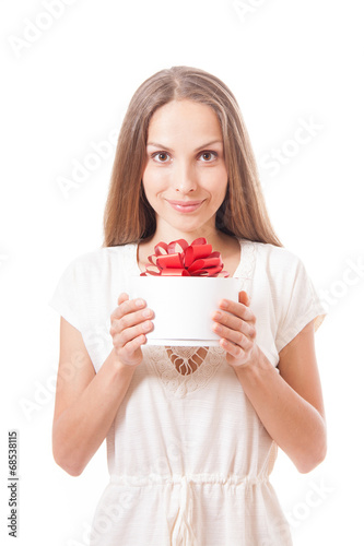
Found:
[{"label": "woman's long straight brown hair, parted in the middle", "polygon": [[174,99],[210,106],[221,124],[228,183],[216,212],[216,228],[237,238],[283,247],[268,216],[249,135],[234,95],[216,76],[190,67],[156,72],[130,100],[105,205],[103,247],[139,242],[155,233],[155,213],[142,185],[148,128],[155,110]]}]

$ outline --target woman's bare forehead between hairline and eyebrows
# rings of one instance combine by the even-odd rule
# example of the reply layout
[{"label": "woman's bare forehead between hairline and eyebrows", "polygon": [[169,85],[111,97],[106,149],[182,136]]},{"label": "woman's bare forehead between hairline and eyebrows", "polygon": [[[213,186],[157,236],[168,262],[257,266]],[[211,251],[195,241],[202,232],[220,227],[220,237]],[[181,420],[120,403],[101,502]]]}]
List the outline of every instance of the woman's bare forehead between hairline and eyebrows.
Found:
[{"label": "woman's bare forehead between hairline and eyebrows", "polygon": [[[172,100],[153,114],[148,131],[149,140],[164,142],[188,135],[189,140],[222,139],[215,111],[208,105],[192,100]],[[162,141],[162,139],[164,139]]]}]

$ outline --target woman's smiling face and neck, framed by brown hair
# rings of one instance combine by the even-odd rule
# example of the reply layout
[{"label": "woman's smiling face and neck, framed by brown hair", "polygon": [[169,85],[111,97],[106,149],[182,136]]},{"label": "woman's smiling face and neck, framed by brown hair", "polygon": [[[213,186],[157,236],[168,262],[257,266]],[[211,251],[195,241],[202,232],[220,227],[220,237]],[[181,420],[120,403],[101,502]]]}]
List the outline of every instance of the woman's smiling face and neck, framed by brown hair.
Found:
[{"label": "woman's smiling face and neck, framed by brown hair", "polygon": [[214,234],[215,214],[227,188],[214,110],[186,99],[158,108],[149,126],[146,157],[143,187],[155,211],[156,233]]}]

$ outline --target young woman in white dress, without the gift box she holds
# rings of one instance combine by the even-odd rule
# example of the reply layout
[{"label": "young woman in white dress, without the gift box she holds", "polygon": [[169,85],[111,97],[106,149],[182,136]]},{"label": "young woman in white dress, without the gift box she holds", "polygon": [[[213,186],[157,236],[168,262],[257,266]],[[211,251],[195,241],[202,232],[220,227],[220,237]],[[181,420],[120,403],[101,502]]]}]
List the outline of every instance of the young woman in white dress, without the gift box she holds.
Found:
[{"label": "young woman in white dress, without the gift box she holds", "polygon": [[[306,270],[277,238],[231,91],[199,69],[148,79],[121,127],[103,248],[73,260],[60,312],[56,462],[82,473],[107,440],[92,546],[287,546],[269,475],[278,447],[307,473],[326,455]],[[219,347],[150,346],[153,309],[129,280],[160,241],[204,237],[240,280]],[[196,312],[192,310],[191,312]]]}]

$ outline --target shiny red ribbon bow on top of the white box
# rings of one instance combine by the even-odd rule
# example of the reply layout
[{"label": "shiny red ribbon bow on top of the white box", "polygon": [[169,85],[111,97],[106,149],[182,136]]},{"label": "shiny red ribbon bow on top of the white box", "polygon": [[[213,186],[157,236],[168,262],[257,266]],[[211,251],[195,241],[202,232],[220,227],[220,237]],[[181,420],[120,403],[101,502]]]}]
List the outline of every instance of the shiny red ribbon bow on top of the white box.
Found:
[{"label": "shiny red ribbon bow on top of the white box", "polygon": [[[181,252],[176,251],[179,245]],[[154,254],[148,257],[154,269],[146,268],[140,276],[219,276],[227,277],[228,272],[222,271],[224,264],[220,252],[212,252],[212,246],[204,237],[195,239],[191,245],[185,239],[169,242],[158,242]]]}]

